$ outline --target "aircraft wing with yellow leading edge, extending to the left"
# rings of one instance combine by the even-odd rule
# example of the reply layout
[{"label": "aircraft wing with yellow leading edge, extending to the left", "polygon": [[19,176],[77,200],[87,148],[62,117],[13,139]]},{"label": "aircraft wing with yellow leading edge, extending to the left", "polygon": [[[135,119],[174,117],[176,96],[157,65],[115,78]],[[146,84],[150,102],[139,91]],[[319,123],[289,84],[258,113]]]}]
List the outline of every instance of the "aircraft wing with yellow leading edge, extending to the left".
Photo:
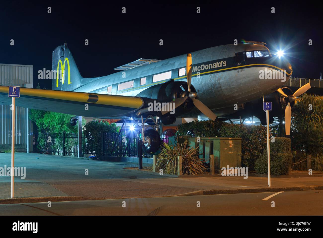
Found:
[{"label": "aircraft wing with yellow leading edge, extending to the left", "polygon": [[[8,93],[8,86],[0,86],[0,105],[11,105],[12,99],[8,97]],[[16,106],[19,107],[96,118],[122,118],[142,108],[143,105],[144,100],[137,96],[23,87],[20,88],[20,97],[16,98]]]}]

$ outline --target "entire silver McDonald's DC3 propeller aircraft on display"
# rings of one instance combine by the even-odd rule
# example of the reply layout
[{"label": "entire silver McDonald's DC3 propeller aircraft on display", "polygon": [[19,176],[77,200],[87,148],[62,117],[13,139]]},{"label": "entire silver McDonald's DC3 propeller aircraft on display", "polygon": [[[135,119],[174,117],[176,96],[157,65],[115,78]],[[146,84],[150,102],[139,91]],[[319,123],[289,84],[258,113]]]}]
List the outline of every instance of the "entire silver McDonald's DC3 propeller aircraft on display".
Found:
[{"label": "entire silver McDonald's DC3 propeller aircraft on display", "polygon": [[[97,78],[81,77],[65,44],[53,51],[52,68],[57,71],[52,81],[55,90],[21,88],[16,106],[102,119],[133,118],[145,122],[159,117],[164,125],[172,124],[179,116],[202,113],[212,120],[216,116],[256,116],[266,124],[264,96],[265,101],[273,103],[270,123],[285,110],[286,135],[289,135],[291,108],[296,97],[310,85],[295,93],[287,87],[281,88],[290,79],[292,66],[284,57],[272,55],[265,44],[245,41],[161,61],[139,59],[115,68],[120,72]],[[62,80],[59,70],[65,74]],[[261,72],[273,74],[261,78]],[[156,107],[158,103],[166,109]],[[0,104],[11,104],[7,86],[0,86]],[[234,110],[236,105],[238,110]],[[76,119],[71,118],[71,124],[76,124]],[[157,121],[153,121],[152,128],[158,128]],[[146,129],[141,128],[143,149],[155,152],[160,144],[159,133]]]}]

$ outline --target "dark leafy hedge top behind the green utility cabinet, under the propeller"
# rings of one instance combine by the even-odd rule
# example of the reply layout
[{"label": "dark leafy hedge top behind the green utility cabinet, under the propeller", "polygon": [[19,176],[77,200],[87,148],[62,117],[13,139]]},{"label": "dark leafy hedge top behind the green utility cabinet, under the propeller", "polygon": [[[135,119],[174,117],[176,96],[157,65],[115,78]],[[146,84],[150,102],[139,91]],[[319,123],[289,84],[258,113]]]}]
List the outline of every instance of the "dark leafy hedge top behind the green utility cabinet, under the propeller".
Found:
[{"label": "dark leafy hedge top behind the green utility cabinet, under the propeller", "polygon": [[223,122],[218,120],[182,123],[178,125],[176,134],[179,136],[190,135],[192,137],[219,137],[222,124]]}]

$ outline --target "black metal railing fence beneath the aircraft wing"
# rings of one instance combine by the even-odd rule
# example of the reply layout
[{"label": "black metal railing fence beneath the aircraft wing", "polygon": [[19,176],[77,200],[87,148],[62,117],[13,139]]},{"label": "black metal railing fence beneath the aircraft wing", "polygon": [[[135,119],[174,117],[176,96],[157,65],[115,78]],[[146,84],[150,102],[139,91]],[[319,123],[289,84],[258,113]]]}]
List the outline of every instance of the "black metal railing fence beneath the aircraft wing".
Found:
[{"label": "black metal railing fence beneath the aircraft wing", "polygon": [[[35,133],[37,153],[46,153],[63,156],[78,156],[77,133]],[[162,135],[161,141],[168,143],[168,136]],[[137,136],[121,133],[102,133],[98,140],[90,140],[82,135],[81,157],[94,154],[100,156],[138,157]],[[158,153],[158,152],[157,152]],[[143,157],[152,158],[152,153],[144,153]]]}]

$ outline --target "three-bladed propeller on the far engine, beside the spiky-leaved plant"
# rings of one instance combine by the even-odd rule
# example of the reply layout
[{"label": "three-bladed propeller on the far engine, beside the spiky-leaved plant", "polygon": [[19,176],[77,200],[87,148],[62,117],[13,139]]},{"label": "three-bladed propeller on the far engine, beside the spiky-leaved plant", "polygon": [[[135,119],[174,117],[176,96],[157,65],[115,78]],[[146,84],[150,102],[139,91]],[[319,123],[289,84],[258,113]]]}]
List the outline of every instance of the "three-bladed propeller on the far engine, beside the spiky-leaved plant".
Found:
[{"label": "three-bladed propeller on the far engine, beside the spiky-leaved plant", "polygon": [[281,98],[281,103],[284,105],[287,103],[285,108],[285,131],[286,131],[287,137],[289,137],[290,135],[290,121],[291,121],[291,114],[292,114],[292,108],[290,106],[290,103],[294,102],[296,100],[296,97],[302,95],[310,88],[311,88],[310,83],[307,83],[306,85],[303,85],[299,89],[297,89],[292,96],[288,96],[287,94],[285,94],[281,88],[277,89],[277,92],[280,93],[282,96],[284,96],[283,98]]}]

